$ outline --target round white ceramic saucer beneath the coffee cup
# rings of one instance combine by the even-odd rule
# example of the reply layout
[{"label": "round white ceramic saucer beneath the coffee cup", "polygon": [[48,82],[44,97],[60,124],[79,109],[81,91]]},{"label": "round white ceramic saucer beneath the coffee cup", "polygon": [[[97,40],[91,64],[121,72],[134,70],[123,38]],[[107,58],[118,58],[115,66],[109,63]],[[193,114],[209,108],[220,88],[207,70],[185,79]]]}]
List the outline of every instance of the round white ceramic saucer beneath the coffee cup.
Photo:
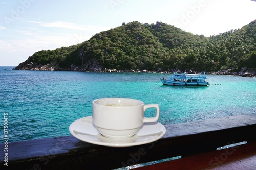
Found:
[{"label": "round white ceramic saucer beneath the coffee cup", "polygon": [[166,129],[159,122],[144,123],[139,132],[126,139],[106,138],[92,124],[92,116],[83,117],[69,126],[70,133],[82,141],[109,147],[131,147],[156,141],[164,136]]}]

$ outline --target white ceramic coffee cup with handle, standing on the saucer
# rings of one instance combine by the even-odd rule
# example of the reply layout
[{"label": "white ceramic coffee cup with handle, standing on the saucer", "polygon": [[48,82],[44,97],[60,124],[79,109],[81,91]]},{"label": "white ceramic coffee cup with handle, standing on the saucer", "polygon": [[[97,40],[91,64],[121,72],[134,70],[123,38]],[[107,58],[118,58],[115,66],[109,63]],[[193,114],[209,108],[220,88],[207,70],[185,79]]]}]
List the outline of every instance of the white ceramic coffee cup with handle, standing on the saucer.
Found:
[{"label": "white ceramic coffee cup with handle, standing on the saucer", "polygon": [[[159,105],[129,98],[101,98],[92,102],[93,125],[108,138],[122,139],[135,135],[145,122],[156,122]],[[145,110],[156,108],[155,117],[144,117]]]}]

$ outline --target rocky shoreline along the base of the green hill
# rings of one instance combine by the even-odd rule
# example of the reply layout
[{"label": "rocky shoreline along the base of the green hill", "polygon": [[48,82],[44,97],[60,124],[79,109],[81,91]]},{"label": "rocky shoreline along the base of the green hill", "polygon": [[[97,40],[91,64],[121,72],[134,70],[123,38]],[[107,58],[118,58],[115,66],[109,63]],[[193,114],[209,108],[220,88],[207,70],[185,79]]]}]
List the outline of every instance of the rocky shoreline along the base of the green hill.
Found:
[{"label": "rocky shoreline along the base of the green hill", "polygon": [[[162,71],[162,68],[157,68],[157,70],[133,70],[133,69],[107,69],[102,68],[98,63],[86,64],[84,67],[71,65],[68,69],[59,67],[57,62],[53,62],[47,65],[35,64],[33,62],[26,64],[25,62],[20,63],[17,67],[13,68],[14,70],[35,70],[35,71],[87,71],[87,72],[149,72],[149,73],[165,73],[170,74],[176,71],[176,69],[170,69],[169,71]],[[182,71],[181,71],[182,72]],[[198,71],[189,70],[188,73],[199,73]],[[201,72],[203,73],[203,72]],[[232,68],[220,70],[217,72],[206,72],[210,75],[232,75],[232,76],[242,76],[242,77],[256,77],[256,69],[243,67],[239,72],[233,72]]]}]

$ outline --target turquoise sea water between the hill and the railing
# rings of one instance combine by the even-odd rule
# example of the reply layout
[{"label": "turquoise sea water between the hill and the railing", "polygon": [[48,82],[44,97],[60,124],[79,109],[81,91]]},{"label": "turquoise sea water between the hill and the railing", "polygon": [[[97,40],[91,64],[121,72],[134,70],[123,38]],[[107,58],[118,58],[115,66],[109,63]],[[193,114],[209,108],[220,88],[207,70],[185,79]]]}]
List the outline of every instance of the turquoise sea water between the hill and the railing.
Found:
[{"label": "turquoise sea water between the hill and the railing", "polygon": [[[171,74],[22,71],[0,67],[0,119],[9,142],[67,136],[69,125],[92,115],[92,101],[122,97],[157,103],[159,122],[174,124],[256,114],[256,79],[207,75],[208,87],[163,86]],[[148,109],[146,116],[154,116]],[[0,127],[4,138],[4,127]]]}]

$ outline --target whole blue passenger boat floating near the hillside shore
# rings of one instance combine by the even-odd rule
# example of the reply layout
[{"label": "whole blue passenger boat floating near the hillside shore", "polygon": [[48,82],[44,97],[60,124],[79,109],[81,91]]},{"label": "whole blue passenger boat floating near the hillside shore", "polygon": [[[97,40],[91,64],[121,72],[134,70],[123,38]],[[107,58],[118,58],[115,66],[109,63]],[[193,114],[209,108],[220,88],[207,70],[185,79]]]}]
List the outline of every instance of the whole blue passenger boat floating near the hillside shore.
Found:
[{"label": "whole blue passenger boat floating near the hillside shore", "polygon": [[160,78],[163,85],[169,86],[208,86],[209,83],[206,81],[205,72],[204,74],[188,74],[187,72],[178,73],[175,72],[169,79]]}]

